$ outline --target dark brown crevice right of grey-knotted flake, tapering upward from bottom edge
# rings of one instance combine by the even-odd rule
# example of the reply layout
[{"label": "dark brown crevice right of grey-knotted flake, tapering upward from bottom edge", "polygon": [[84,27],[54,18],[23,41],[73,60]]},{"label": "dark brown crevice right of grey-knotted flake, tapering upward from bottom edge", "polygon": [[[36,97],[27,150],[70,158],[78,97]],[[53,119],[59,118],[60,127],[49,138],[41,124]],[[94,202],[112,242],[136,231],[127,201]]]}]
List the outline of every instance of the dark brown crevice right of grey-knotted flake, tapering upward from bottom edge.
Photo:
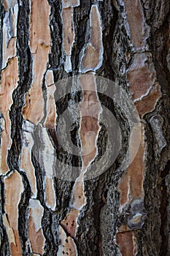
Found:
[{"label": "dark brown crevice right of grey-knotted flake, tapering upward from bottom edge", "polygon": [[156,188],[160,166],[155,162],[155,152],[152,143],[154,135],[149,125],[146,126],[145,136],[147,140],[147,164],[144,177],[144,208],[147,211],[147,219],[144,223],[141,253],[142,255],[152,256],[159,255],[158,252],[160,250],[161,217],[159,214],[159,192]]}]

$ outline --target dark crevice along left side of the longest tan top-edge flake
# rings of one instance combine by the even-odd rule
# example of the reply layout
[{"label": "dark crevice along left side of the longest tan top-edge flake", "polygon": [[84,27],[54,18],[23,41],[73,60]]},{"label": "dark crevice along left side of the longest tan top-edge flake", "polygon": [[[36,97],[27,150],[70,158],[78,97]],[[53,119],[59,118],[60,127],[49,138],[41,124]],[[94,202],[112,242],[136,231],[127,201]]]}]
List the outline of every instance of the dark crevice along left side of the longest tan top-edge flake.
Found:
[{"label": "dark crevice along left side of the longest tan top-edge flake", "polygon": [[[12,94],[13,104],[9,111],[12,138],[12,146],[8,151],[7,157],[9,170],[19,170],[18,160],[22,147],[20,129],[23,122],[21,113],[24,105],[24,94],[30,88],[32,80],[32,59],[31,51],[28,46],[29,12],[29,1],[25,1],[24,5],[20,5],[18,10],[17,56],[19,61],[19,81],[17,89],[15,89]],[[25,20],[25,22],[23,22],[23,20]]]}]

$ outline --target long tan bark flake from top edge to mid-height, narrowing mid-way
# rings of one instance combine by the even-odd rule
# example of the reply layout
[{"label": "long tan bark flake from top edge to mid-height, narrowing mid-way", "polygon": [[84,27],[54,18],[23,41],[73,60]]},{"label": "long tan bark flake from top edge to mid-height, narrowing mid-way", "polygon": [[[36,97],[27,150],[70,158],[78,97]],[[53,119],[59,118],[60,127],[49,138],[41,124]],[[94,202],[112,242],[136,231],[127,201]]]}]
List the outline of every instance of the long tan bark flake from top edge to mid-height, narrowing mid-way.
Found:
[{"label": "long tan bark flake from top edge to mid-height, narrowing mid-way", "polygon": [[31,1],[30,48],[34,57],[34,81],[26,94],[23,116],[34,124],[38,124],[44,115],[42,79],[50,52],[49,15],[50,5],[46,0]]}]

